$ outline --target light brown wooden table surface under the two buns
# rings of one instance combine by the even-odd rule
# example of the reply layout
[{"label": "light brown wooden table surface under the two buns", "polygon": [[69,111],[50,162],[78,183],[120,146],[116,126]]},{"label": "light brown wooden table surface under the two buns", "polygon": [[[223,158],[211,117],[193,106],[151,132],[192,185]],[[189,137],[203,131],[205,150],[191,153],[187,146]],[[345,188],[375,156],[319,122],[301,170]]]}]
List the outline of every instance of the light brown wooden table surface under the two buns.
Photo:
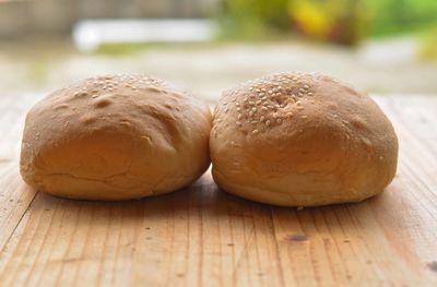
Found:
[{"label": "light brown wooden table surface under the two buns", "polygon": [[19,176],[35,95],[0,95],[0,286],[437,286],[437,96],[375,96],[400,140],[398,175],[357,204],[273,207],[206,172],[119,203],[37,193]]}]

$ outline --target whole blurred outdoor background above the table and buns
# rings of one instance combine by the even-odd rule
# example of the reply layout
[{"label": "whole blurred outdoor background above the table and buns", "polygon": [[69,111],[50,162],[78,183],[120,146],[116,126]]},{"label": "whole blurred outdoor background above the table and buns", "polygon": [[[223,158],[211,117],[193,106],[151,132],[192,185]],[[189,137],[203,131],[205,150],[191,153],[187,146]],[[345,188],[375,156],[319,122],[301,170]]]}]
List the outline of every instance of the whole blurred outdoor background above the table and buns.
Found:
[{"label": "whole blurred outdoor background above the table and buns", "polygon": [[437,0],[0,0],[0,97],[131,72],[215,100],[280,71],[436,94]]}]

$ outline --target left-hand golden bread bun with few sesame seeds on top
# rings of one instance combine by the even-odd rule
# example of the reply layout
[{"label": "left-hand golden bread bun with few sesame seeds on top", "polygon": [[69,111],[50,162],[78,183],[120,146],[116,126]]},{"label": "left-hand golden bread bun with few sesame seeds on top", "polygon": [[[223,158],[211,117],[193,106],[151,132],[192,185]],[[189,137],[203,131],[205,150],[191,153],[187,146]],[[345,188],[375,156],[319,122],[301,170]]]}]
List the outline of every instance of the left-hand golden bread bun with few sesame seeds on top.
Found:
[{"label": "left-hand golden bread bun with few sesame seeds on top", "polygon": [[210,165],[211,121],[205,104],[164,81],[87,79],[28,112],[21,175],[39,191],[74,199],[175,191]]}]

